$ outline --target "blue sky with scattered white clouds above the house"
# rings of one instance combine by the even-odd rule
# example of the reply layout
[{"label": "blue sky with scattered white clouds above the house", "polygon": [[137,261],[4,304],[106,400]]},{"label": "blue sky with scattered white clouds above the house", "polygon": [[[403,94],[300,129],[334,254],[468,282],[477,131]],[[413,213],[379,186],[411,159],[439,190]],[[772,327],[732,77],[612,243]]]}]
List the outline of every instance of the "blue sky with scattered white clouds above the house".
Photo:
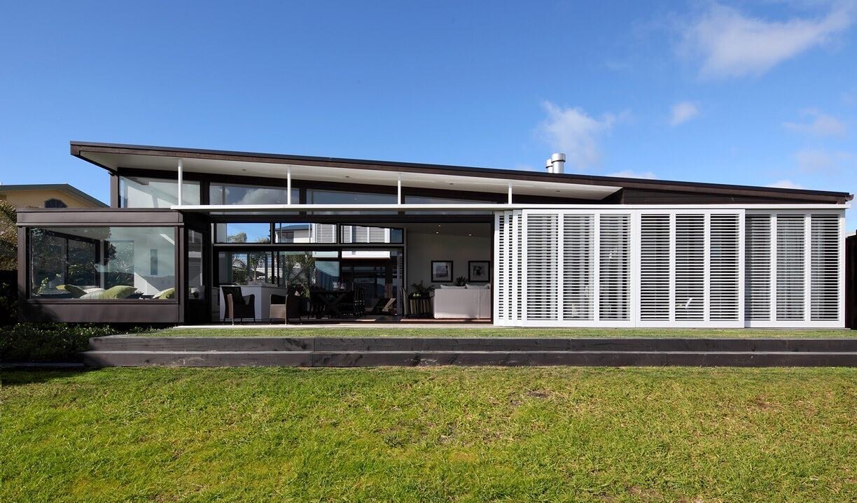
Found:
[{"label": "blue sky with scattered white clouds above the house", "polygon": [[[857,191],[857,2],[7,2],[0,182],[70,140]],[[849,212],[848,228],[857,226]]]}]

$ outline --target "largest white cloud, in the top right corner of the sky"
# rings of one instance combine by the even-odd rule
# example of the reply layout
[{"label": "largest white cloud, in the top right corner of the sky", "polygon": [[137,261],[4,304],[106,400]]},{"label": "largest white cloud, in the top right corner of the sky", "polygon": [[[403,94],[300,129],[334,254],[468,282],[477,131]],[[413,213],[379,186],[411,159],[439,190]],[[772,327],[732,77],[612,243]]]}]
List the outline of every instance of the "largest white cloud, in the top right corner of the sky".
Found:
[{"label": "largest white cloud, in the top right corner of the sky", "polygon": [[702,58],[702,77],[762,75],[846,30],[854,21],[853,13],[853,6],[845,5],[823,17],[766,21],[714,3],[683,27],[680,50]]}]

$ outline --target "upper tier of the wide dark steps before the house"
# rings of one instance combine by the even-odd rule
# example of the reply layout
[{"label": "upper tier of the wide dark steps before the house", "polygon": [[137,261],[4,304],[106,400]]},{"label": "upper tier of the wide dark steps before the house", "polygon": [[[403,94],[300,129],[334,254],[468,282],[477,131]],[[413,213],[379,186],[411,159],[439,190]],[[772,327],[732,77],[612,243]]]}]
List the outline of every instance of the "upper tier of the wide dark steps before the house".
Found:
[{"label": "upper tier of the wide dark steps before the house", "polygon": [[109,351],[735,351],[857,352],[854,338],[338,338],[129,337],[89,340]]}]

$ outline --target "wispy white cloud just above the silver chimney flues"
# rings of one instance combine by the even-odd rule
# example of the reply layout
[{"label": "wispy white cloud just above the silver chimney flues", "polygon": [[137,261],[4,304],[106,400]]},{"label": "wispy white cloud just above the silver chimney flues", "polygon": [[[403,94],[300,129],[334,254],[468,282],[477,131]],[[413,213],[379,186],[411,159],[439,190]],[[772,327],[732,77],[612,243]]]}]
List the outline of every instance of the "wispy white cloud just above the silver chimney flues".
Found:
[{"label": "wispy white cloud just above the silver chimney flues", "polygon": [[539,126],[539,135],[551,148],[566,154],[566,162],[580,170],[598,165],[602,153],[598,140],[613,129],[626,114],[604,114],[601,119],[590,117],[580,108],[562,108],[545,101],[542,107],[548,118]]}]

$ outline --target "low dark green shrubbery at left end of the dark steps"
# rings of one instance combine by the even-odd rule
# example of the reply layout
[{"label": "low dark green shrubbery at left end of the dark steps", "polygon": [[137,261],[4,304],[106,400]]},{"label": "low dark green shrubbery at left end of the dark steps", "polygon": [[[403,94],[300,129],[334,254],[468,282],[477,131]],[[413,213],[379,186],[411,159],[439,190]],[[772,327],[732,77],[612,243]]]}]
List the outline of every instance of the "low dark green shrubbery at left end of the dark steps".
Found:
[{"label": "low dark green shrubbery at left end of the dark steps", "polygon": [[0,362],[77,362],[89,338],[143,329],[72,323],[18,323],[0,326]]}]

